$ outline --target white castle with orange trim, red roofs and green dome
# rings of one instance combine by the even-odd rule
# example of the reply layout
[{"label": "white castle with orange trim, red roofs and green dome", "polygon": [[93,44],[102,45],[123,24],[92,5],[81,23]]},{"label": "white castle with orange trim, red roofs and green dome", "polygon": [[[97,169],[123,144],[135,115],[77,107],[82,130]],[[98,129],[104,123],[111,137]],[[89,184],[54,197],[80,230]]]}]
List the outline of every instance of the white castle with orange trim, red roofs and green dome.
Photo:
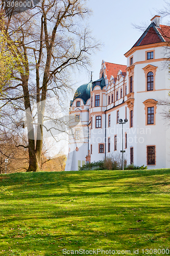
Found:
[{"label": "white castle with orange trim, red roofs and green dome", "polygon": [[[122,149],[127,164],[170,167],[170,130],[162,116],[164,106],[158,104],[169,97],[169,42],[170,27],[160,25],[156,15],[125,53],[127,66],[103,60],[99,79],[77,89],[69,112],[77,125],[69,135],[65,170],[118,156]],[[125,118],[122,134],[119,119]]]}]

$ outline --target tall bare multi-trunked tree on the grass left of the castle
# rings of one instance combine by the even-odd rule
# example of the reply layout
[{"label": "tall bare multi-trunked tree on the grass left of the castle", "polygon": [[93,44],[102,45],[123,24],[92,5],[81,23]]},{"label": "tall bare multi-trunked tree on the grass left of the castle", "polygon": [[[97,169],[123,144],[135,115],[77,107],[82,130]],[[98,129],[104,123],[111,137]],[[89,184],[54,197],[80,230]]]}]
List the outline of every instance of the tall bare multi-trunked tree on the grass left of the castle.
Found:
[{"label": "tall bare multi-trunked tree on the grass left of the castle", "polygon": [[8,51],[16,58],[12,86],[4,87],[1,98],[1,108],[8,105],[11,121],[4,118],[2,125],[6,123],[12,131],[19,129],[19,134],[26,116],[28,141],[17,146],[28,148],[28,172],[39,170],[46,99],[54,95],[59,99],[61,93],[64,98],[71,86],[70,71],[87,68],[90,54],[100,47],[88,27],[83,27],[84,18],[91,13],[85,2],[41,0],[27,12],[6,16],[1,10],[1,31],[8,39]]}]

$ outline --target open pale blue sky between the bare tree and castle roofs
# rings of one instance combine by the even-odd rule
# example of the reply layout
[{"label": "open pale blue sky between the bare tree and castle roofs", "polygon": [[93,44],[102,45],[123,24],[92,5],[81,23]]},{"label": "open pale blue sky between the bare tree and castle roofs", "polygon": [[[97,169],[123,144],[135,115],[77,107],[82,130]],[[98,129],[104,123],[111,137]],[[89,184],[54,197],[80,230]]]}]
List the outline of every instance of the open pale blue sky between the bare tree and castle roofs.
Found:
[{"label": "open pale blue sky between the bare tree and castle roofs", "polygon": [[[166,6],[163,0],[87,0],[93,15],[88,22],[96,39],[104,43],[100,52],[92,56],[93,81],[99,79],[102,60],[127,65],[124,54],[129,51],[142,34],[133,27],[136,25],[150,25],[151,18],[158,15]],[[166,25],[167,18],[161,20]],[[77,76],[76,88],[90,81],[86,71]]]}]

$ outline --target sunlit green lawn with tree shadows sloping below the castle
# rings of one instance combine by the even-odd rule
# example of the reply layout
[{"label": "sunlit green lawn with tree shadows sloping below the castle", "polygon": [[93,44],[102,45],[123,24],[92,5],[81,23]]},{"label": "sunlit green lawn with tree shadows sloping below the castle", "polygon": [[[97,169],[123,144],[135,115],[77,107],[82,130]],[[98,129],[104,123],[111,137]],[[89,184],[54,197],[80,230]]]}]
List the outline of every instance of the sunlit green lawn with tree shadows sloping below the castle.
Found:
[{"label": "sunlit green lawn with tree shadows sloping below the castle", "polygon": [[0,256],[170,254],[169,169],[2,176]]}]

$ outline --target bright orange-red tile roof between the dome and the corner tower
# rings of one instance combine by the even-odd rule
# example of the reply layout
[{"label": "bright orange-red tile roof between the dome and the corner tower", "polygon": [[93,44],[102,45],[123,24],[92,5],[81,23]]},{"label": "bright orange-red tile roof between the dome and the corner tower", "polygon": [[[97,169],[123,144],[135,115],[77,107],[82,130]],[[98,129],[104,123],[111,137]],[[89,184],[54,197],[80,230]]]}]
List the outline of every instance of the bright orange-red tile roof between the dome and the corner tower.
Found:
[{"label": "bright orange-red tile roof between the dome and the corner tower", "polygon": [[106,65],[106,75],[107,79],[110,80],[110,77],[113,76],[114,80],[117,79],[117,72],[119,70],[122,70],[123,76],[126,76],[126,65],[120,65],[120,64],[115,64],[115,63],[110,63],[110,62],[105,62]]}]

